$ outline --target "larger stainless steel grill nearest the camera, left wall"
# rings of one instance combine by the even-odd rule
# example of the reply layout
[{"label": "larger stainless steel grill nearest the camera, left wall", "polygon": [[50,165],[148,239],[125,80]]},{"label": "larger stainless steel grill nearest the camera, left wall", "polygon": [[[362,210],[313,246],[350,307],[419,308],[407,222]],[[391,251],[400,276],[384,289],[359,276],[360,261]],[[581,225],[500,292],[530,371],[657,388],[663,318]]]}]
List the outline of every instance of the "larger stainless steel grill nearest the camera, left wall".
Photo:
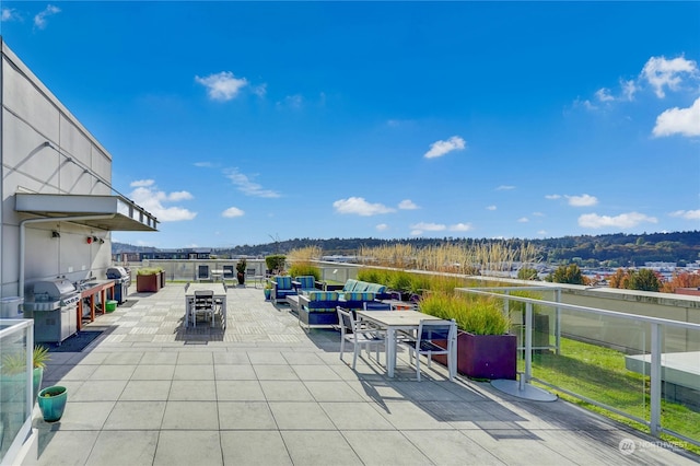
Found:
[{"label": "larger stainless steel grill nearest the camera, left wall", "polygon": [[63,278],[37,281],[24,301],[24,316],[34,318],[34,340],[60,343],[78,331],[80,292]]}]

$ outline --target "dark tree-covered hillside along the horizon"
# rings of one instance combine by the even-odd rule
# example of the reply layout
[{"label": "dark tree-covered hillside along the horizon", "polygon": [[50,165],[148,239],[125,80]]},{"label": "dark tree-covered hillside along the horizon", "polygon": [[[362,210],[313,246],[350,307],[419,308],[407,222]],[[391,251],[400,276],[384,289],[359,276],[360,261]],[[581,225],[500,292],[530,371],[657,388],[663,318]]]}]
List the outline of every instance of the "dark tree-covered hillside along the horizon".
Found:
[{"label": "dark tree-covered hillside along the horizon", "polygon": [[[361,246],[375,247],[392,244],[411,244],[417,248],[441,244],[481,243],[533,244],[541,251],[541,260],[549,264],[578,261],[588,266],[625,267],[639,266],[649,261],[676,263],[685,265],[700,259],[700,231],[677,233],[606,234],[581,235],[546,240],[468,240],[468,238],[294,238],[258,245],[242,245],[233,248],[211,248],[220,257],[266,256],[287,254],[306,246],[319,247],[324,255],[357,255]],[[199,248],[201,249],[201,248]],[[113,243],[113,253],[142,253],[158,251],[153,247]]]}]

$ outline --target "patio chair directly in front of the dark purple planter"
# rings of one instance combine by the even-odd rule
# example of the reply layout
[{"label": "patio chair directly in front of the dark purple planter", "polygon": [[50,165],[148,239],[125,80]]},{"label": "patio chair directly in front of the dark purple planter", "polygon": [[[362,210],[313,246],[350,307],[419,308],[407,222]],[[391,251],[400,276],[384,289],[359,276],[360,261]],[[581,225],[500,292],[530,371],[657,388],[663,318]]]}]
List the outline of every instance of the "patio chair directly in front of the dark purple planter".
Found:
[{"label": "patio chair directly in front of the dark purple planter", "polygon": [[398,342],[408,347],[411,359],[416,354],[416,377],[418,382],[420,382],[421,354],[428,358],[428,368],[430,368],[433,354],[446,354],[450,380],[453,381],[457,364],[457,361],[452,358],[452,354],[456,354],[456,350],[453,351],[453,346],[457,345],[457,324],[455,321],[421,321],[416,336],[416,338],[405,338]]}]

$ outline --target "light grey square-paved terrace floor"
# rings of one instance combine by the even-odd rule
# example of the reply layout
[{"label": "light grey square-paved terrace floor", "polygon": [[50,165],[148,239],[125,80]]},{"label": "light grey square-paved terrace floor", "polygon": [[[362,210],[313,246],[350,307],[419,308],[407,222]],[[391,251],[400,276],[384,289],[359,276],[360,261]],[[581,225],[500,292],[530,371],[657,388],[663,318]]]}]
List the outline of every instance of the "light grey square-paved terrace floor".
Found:
[{"label": "light grey square-paved terrace floor", "polygon": [[[523,401],[486,383],[448,382],[439,364],[421,382],[406,360],[395,380],[374,359],[353,371],[338,358],[337,331],[305,333],[261,290],[229,291],[225,331],[186,331],[184,295],[173,283],[132,292],[130,306],[86,326],[105,333],[85,351],[51,353],[44,386],[67,386],[69,401],[54,424],[35,410],[39,465],[698,461],[650,447],[651,436],[561,400]],[[623,439],[640,447],[621,454]]]}]

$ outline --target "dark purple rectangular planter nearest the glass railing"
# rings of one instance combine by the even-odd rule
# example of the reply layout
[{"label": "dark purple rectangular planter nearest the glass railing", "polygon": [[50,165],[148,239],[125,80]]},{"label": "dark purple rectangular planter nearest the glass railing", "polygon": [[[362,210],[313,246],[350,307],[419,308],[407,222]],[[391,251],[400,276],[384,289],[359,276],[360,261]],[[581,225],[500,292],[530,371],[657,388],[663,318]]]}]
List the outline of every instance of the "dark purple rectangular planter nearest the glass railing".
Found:
[{"label": "dark purple rectangular planter nearest the glass railing", "polygon": [[[447,358],[433,360],[447,365]],[[457,372],[471,378],[510,378],[517,374],[517,337],[515,335],[457,334]]]}]

